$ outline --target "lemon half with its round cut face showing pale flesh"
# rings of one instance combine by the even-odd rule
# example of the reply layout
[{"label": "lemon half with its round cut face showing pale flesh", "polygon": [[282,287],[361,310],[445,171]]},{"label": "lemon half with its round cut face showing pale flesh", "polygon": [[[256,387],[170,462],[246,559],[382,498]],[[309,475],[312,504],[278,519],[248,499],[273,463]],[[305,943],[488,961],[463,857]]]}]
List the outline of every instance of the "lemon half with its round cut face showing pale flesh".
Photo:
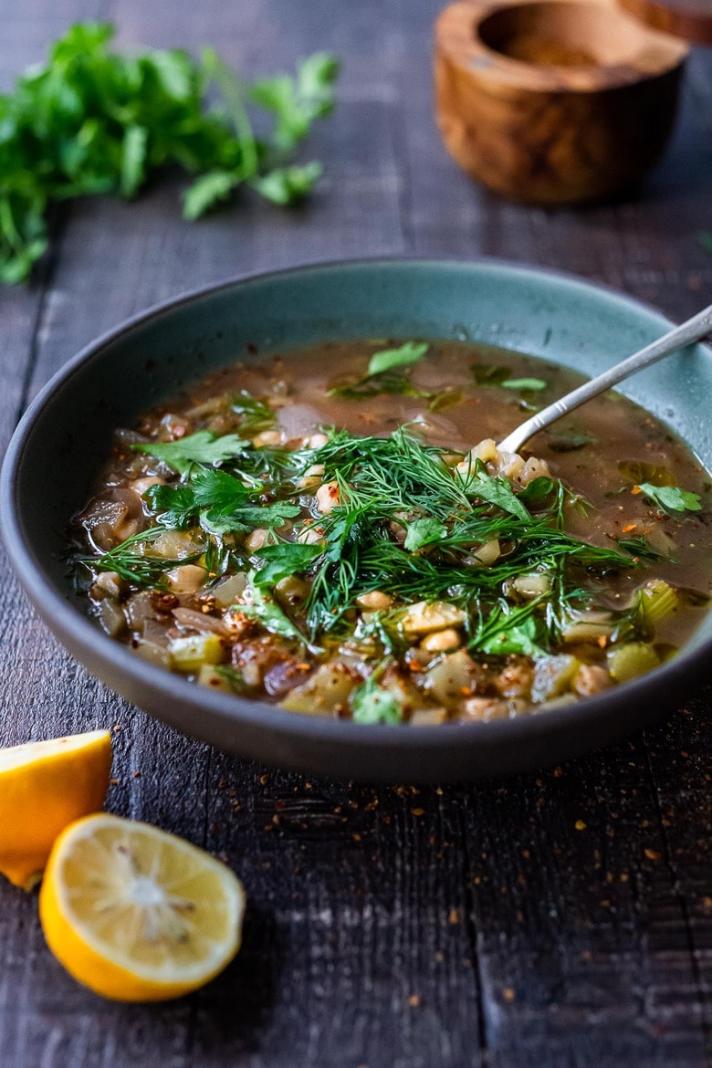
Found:
[{"label": "lemon half with its round cut face showing pale flesh", "polygon": [[240,947],[244,891],[204,850],[148,823],[98,814],[60,835],[39,892],[49,948],[115,1001],[203,986]]}]

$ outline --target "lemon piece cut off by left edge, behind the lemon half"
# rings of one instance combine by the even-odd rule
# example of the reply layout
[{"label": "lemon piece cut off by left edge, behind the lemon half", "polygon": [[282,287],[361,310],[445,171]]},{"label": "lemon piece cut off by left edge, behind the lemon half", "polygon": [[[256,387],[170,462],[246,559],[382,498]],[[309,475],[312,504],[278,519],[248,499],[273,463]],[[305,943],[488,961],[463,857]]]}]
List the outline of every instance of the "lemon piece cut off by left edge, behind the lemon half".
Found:
[{"label": "lemon piece cut off by left edge, behind the lemon half", "polygon": [[0,750],[0,871],[31,890],[54,838],[104,804],[111,770],[108,731]]}]

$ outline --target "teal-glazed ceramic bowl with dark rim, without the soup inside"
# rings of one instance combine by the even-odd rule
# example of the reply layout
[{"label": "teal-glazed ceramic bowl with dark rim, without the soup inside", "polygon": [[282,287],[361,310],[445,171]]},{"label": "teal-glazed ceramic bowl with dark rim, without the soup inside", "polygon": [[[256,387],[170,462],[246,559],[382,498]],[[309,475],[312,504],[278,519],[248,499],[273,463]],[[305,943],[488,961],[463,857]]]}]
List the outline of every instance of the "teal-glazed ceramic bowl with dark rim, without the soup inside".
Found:
[{"label": "teal-glazed ceramic bowl with dark rim, without the soup inside", "polygon": [[[385,782],[481,778],[573,756],[679,704],[706,668],[712,616],[674,661],[573,707],[489,724],[362,726],[215,693],[142,662],[73,600],[62,532],[84,502],[114,427],[238,358],[259,360],[330,337],[416,335],[490,342],[594,373],[668,328],[658,312],[610,289],[491,261],[342,263],[189,294],[90,345],[32,404],[2,470],[11,560],[39,615],[90,671],[179,731],[242,756]],[[259,356],[249,355],[249,344]],[[712,468],[708,348],[671,357],[621,391]]]}]

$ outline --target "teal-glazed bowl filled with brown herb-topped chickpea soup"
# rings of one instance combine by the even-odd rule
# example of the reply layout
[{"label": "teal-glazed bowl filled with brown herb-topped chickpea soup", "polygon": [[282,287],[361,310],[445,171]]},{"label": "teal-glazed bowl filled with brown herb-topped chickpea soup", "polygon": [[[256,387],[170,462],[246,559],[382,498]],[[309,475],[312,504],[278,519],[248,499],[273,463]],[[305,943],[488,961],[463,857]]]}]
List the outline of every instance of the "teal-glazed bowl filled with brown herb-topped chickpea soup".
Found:
[{"label": "teal-glazed bowl filled with brown herb-topped chickpea soup", "polygon": [[362,781],[550,764],[675,708],[712,626],[712,357],[527,443],[662,334],[496,262],[239,279],[122,325],[27,412],[3,531],[90,671],[186,734]]}]

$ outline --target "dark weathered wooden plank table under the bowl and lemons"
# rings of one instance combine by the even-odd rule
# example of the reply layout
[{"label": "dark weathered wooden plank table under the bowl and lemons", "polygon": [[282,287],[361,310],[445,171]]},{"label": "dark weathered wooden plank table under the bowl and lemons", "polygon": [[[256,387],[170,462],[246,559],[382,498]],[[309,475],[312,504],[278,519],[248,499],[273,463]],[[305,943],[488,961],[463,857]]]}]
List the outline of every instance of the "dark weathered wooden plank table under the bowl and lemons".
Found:
[{"label": "dark weathered wooden plank table under the bowl and lemons", "polygon": [[[712,299],[712,53],[635,199],[505,203],[433,128],[427,0],[2,3],[3,88],[78,18],[122,44],[215,44],[249,75],[344,59],[303,210],[250,199],[199,224],[178,179],[131,205],[65,205],[28,287],[0,293],[2,443],[82,345],[180,290],[243,271],[379,254],[481,254],[576,271],[681,319]],[[308,158],[308,154],[307,154]],[[114,731],[111,811],[223,857],[244,946],[194,996],[102,1002],[47,951],[36,895],[0,886],[2,1068],[702,1068],[712,983],[708,688],[570,765],[456,788],[362,788],[226,756],[114,697],[0,585],[0,742]],[[0,819],[11,818],[4,813]],[[707,1043],[707,1046],[706,1046]]]}]

